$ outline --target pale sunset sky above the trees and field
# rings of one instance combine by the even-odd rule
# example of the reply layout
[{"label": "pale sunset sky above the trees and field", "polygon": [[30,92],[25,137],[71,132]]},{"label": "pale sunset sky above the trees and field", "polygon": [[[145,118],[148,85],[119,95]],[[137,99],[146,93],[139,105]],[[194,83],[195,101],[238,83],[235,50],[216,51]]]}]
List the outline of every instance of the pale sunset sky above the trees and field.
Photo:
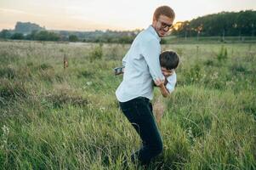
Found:
[{"label": "pale sunset sky above the trees and field", "polygon": [[48,30],[143,29],[161,5],[174,9],[174,23],[222,11],[256,10],[256,0],[0,0],[0,30],[14,29],[17,21]]}]

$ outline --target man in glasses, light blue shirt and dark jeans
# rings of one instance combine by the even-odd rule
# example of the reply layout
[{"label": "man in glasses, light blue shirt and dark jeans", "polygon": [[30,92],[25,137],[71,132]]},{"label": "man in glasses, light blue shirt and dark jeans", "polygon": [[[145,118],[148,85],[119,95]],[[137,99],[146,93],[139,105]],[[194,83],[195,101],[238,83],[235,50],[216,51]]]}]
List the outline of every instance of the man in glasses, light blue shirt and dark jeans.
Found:
[{"label": "man in glasses, light blue shirt and dark jeans", "polygon": [[153,98],[152,83],[155,82],[158,87],[164,83],[159,63],[160,40],[173,26],[174,17],[172,8],[156,8],[151,26],[139,33],[122,59],[125,71],[116,95],[123,114],[142,139],[142,147],[131,159],[139,159],[143,165],[162,152],[162,137],[156,126],[150,100]]}]

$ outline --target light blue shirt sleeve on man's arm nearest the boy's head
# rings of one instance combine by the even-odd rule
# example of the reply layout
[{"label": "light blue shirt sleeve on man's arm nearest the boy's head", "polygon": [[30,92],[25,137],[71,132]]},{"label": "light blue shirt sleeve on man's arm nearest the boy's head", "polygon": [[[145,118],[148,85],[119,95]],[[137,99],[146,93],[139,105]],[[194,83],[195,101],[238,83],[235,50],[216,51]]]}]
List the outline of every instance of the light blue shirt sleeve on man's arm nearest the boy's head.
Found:
[{"label": "light blue shirt sleeve on man's arm nearest the boy's head", "polygon": [[156,78],[164,80],[159,62],[160,51],[160,43],[157,42],[157,40],[152,39],[145,44],[142,44],[142,55],[145,58],[151,77],[154,81]]}]

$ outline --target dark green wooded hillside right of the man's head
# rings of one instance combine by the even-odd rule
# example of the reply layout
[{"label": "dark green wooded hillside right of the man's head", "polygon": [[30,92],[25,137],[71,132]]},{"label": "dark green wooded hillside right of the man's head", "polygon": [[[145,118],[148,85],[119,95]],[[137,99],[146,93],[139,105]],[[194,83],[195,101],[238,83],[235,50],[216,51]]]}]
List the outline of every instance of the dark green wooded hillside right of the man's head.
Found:
[{"label": "dark green wooded hillside right of the man's head", "polygon": [[208,14],[191,21],[178,22],[173,35],[196,36],[255,36],[256,11],[221,12]]}]

